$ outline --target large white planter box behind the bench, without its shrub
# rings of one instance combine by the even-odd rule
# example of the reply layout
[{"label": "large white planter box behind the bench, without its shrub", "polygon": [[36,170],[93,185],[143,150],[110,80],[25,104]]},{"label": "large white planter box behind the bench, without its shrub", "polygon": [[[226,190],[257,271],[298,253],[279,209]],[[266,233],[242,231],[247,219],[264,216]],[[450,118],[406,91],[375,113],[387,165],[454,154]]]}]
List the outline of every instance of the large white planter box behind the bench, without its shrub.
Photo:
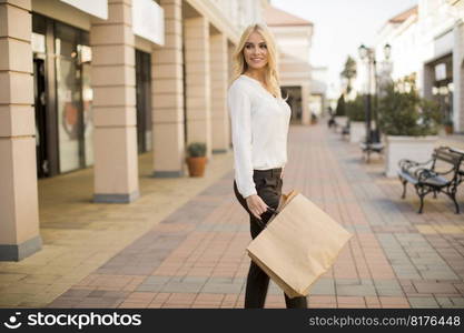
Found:
[{"label": "large white planter box behind the bench, without its shrub", "polygon": [[438,141],[438,137],[386,137],[385,174],[397,176],[398,162],[408,159],[416,162],[426,162]]}]

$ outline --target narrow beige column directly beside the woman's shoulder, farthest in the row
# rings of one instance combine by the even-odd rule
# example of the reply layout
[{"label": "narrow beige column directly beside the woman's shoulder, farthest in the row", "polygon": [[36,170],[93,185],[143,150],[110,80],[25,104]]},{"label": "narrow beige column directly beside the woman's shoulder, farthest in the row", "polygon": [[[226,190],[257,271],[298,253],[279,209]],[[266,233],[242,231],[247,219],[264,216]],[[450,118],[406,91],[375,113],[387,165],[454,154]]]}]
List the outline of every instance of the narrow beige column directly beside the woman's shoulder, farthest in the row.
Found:
[{"label": "narrow beige column directly beside the woman's shoulder, farthest in the row", "polygon": [[229,149],[229,117],[227,112],[228,59],[227,38],[221,34],[210,37],[211,73],[211,140],[213,153],[225,153]]}]

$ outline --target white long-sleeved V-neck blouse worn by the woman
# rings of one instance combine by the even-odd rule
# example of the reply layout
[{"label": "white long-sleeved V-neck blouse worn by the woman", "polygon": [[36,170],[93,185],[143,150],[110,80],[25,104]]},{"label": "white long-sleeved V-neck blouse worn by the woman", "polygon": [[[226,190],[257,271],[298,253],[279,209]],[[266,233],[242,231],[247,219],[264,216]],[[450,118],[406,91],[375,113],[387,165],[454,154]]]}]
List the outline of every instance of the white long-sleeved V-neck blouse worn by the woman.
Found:
[{"label": "white long-sleeved V-neck blouse worn by the woman", "polygon": [[244,198],[256,194],[253,170],[284,168],[290,107],[259,81],[240,75],[227,94],[234,145],[235,181]]}]

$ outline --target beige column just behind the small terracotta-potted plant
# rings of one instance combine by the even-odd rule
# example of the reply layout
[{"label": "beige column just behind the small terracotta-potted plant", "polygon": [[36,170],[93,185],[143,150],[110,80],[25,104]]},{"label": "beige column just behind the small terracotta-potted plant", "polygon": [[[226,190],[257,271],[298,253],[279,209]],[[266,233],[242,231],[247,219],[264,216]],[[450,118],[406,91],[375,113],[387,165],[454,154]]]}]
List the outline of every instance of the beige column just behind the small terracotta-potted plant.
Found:
[{"label": "beige column just behind the small terracotta-potted plant", "polygon": [[204,142],[211,157],[209,23],[197,17],[185,21],[187,143]]}]

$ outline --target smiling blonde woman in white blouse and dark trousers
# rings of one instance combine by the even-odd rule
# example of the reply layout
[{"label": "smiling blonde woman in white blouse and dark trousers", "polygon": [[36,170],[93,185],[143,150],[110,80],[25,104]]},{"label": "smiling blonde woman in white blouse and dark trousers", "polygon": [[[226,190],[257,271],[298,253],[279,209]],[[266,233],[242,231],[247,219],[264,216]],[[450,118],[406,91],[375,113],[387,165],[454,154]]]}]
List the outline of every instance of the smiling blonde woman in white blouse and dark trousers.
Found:
[{"label": "smiling blonde woman in white blouse and dark trousers", "polygon": [[[261,231],[280,199],[287,162],[290,108],[282,99],[276,47],[267,28],[248,27],[234,54],[236,73],[227,103],[231,120],[234,192],[249,213],[251,238]],[[253,261],[247,276],[245,307],[264,307],[269,276]],[[306,297],[289,299],[287,307],[307,307]]]}]

